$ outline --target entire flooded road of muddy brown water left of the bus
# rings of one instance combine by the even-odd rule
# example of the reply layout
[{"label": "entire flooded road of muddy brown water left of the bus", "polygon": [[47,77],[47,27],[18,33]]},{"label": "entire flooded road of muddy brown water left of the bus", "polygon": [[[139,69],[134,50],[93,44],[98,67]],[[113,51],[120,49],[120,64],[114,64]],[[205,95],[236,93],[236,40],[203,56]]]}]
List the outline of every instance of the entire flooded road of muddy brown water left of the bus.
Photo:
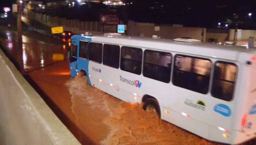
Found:
[{"label": "entire flooded road of muddy brown water left of the bus", "polygon": [[24,31],[17,47],[16,33],[0,30],[0,43],[15,59],[20,72],[83,145],[217,145],[166,121],[141,104],[121,101],[70,77],[63,42]]}]

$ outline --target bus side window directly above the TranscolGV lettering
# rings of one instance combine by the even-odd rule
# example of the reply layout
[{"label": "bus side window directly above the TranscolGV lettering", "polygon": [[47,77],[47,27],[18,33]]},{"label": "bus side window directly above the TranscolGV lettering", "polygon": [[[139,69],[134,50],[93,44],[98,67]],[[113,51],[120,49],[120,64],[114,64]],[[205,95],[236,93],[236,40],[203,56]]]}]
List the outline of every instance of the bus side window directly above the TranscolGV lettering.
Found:
[{"label": "bus side window directly above the TranscolGV lettering", "polygon": [[123,71],[141,74],[142,49],[123,46],[121,49],[121,65]]}]

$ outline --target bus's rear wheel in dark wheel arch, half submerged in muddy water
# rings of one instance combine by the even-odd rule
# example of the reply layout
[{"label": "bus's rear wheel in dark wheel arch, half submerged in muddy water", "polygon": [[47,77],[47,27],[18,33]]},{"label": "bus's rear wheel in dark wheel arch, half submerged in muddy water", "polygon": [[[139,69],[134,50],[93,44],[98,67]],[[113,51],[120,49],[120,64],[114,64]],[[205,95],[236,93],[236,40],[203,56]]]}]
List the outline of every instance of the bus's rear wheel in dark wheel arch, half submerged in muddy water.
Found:
[{"label": "bus's rear wheel in dark wheel arch, half submerged in muddy water", "polygon": [[145,111],[148,111],[150,108],[154,110],[154,112],[157,114],[158,118],[160,119],[161,118],[160,107],[156,99],[148,98],[147,100],[145,100],[145,102],[143,103],[143,109]]}]

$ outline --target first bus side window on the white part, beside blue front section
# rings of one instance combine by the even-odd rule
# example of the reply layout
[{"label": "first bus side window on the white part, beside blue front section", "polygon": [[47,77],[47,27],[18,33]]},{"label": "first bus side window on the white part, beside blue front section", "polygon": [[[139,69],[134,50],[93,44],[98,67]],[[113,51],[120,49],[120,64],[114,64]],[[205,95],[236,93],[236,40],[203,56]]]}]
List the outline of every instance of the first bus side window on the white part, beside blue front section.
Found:
[{"label": "first bus side window on the white part, beside blue front section", "polygon": [[89,60],[93,62],[102,62],[102,44],[90,42]]}]

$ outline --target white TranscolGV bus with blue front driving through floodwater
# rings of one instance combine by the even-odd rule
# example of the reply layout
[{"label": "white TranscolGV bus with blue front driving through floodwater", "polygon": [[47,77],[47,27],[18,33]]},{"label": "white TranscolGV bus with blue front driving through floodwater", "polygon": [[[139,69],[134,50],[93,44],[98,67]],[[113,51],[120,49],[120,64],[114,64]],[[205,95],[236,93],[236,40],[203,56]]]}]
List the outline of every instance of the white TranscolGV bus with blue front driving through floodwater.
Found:
[{"label": "white TranscolGV bus with blue front driving through floodwater", "polygon": [[256,136],[256,49],[128,36],[74,35],[71,76],[202,138]]}]

